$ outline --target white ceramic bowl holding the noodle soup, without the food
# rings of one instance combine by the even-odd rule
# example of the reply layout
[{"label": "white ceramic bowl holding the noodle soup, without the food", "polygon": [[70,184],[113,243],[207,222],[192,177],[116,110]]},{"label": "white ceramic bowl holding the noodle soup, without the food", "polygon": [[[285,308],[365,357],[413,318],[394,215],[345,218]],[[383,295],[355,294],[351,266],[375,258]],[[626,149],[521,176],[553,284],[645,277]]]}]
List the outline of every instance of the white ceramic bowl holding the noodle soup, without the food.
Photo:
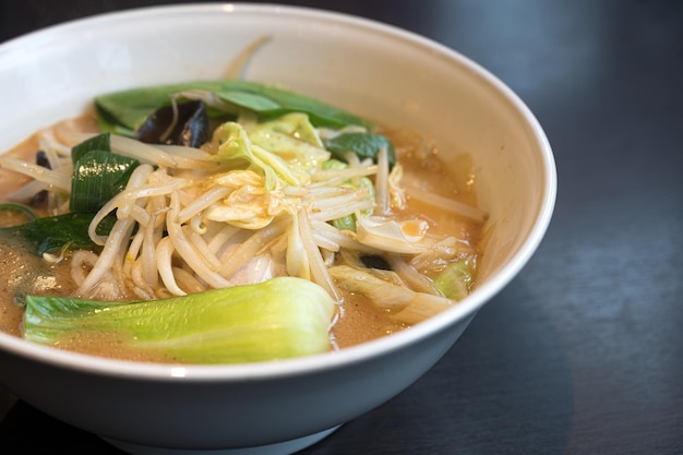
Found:
[{"label": "white ceramic bowl holding the noodle soup, without the food", "polygon": [[[106,360],[0,334],[0,381],[45,412],[134,454],[286,454],[385,403],[426,373],[535,252],[555,168],[532,113],[478,64],[371,21],[252,4],[132,10],[0,45],[0,149],[82,112],[100,93],[220,77],[264,31],[248,77],[410,125],[469,152],[493,236],[477,290],[411,330],[272,363],[171,367]],[[155,447],[166,447],[157,450]]]}]

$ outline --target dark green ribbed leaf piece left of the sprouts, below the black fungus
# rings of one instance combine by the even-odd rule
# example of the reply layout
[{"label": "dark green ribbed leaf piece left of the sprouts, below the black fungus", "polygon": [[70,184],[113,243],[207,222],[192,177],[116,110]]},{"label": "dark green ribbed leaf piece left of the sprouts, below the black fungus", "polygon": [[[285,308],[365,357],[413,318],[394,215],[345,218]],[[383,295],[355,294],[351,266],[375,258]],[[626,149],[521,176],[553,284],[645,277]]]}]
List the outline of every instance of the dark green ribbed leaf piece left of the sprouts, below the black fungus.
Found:
[{"label": "dark green ribbed leaf piece left of the sprouts, below the black fungus", "polygon": [[71,151],[71,212],[97,212],[125,189],[140,161],[111,152],[109,133],[103,133]]}]

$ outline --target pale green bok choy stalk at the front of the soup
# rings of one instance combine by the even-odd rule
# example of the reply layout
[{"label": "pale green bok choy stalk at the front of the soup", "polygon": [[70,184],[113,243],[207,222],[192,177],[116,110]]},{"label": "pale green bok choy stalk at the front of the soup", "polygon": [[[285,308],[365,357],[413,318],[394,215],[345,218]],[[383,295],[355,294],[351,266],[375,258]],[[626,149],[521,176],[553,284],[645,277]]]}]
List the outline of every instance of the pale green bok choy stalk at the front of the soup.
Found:
[{"label": "pale green bok choy stalk at the front of the soup", "polygon": [[322,287],[295,277],[132,303],[27,296],[24,337],[105,331],[180,362],[254,362],[327,351],[334,312]]}]

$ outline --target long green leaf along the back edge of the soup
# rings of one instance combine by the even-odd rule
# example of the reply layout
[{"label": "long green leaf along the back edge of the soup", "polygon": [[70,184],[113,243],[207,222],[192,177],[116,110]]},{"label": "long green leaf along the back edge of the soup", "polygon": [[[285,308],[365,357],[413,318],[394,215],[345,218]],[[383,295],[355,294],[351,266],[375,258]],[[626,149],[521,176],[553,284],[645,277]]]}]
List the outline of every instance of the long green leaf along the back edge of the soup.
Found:
[{"label": "long green leaf along the back edge of the soup", "polygon": [[103,131],[132,135],[155,110],[171,104],[173,95],[190,89],[195,95],[215,96],[224,101],[219,106],[212,105],[209,115],[213,116],[236,116],[240,110],[249,110],[264,120],[289,112],[303,112],[315,127],[373,125],[350,112],[298,93],[257,82],[223,80],[139,87],[98,96],[95,106],[100,128]]}]

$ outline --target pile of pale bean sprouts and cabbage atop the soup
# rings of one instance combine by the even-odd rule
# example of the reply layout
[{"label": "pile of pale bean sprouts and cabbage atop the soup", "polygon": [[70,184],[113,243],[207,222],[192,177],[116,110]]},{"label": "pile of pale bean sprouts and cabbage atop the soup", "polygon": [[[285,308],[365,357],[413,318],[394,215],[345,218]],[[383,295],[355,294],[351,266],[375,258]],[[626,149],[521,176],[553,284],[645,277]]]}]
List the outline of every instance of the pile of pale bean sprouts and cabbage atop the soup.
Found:
[{"label": "pile of pale bean sprouts and cabbage atop the soup", "polygon": [[[14,199],[48,190],[51,214],[68,212],[71,146],[88,136],[69,124],[41,132],[49,168],[0,158],[2,167],[33,179]],[[319,134],[335,132],[320,129]],[[390,169],[385,148],[376,164],[348,156],[349,165],[340,169],[323,168],[329,154],[321,149],[305,171],[291,170],[289,164],[289,177],[273,185],[253,169],[225,168],[216,159],[221,146],[218,133],[201,148],[111,135],[112,152],[141,165],[125,190],[93,219],[89,236],[101,251],[79,250],[71,258],[77,297],[154,299],[289,275],[313,280],[342,301],[331,267],[358,263],[361,254],[382,254],[392,265],[393,283],[443,299],[424,278],[424,268],[439,262],[434,258],[456,256],[462,243],[454,237],[434,238],[423,219],[392,218],[394,209],[405,206],[406,190],[403,168],[396,164]],[[358,184],[362,178],[372,179],[374,194]],[[454,201],[445,205],[478,221],[486,217]],[[110,214],[116,215],[113,228],[97,235],[98,224]],[[349,215],[358,219],[356,231],[329,223]]]}]

